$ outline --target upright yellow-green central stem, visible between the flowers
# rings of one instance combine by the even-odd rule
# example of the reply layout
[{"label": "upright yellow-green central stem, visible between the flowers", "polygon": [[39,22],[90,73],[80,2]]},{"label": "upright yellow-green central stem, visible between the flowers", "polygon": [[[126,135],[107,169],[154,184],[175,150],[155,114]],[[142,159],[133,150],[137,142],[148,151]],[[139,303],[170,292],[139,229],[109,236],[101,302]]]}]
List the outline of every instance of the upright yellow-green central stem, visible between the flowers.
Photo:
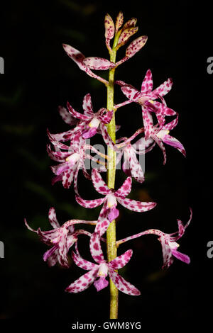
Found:
[{"label": "upright yellow-green central stem, visible between the flowers", "polygon": [[[114,45],[110,52],[110,61],[116,62],[116,44],[118,36],[115,36]],[[109,84],[107,85],[107,109],[109,111],[114,109],[114,72],[115,69],[109,69]],[[115,115],[113,115],[111,122],[107,125],[107,130],[111,140],[116,141],[116,122]],[[109,188],[114,188],[115,176],[116,176],[116,152],[108,147],[107,154],[109,156],[107,164],[107,185]],[[111,261],[116,258],[116,221],[112,221],[107,229],[107,259]],[[119,290],[114,283],[109,281],[110,287],[110,319],[118,318],[118,306],[119,306]]]}]

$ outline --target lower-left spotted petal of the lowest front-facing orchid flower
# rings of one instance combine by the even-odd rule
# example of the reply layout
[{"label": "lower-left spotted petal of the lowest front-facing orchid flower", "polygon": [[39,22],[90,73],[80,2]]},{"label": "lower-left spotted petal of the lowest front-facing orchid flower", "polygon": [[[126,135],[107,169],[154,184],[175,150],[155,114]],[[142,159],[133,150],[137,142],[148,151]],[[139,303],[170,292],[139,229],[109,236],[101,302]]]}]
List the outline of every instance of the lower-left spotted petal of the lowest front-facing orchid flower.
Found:
[{"label": "lower-left spotted petal of the lowest front-facing orchid flower", "polygon": [[80,278],[75,280],[75,282],[71,283],[65,291],[68,293],[80,293],[80,291],[89,288],[97,276],[97,271],[98,269],[93,269],[92,271],[85,273]]}]

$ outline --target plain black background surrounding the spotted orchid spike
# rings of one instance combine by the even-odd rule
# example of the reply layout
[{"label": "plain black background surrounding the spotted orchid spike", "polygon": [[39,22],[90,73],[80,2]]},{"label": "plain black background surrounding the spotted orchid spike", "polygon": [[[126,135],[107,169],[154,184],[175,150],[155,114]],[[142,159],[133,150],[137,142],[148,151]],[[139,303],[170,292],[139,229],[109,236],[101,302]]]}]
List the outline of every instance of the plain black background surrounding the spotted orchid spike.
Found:
[{"label": "plain black background surrounding the spotted orchid spike", "polygon": [[[45,152],[46,128],[50,132],[67,130],[58,115],[58,105],[65,106],[69,100],[81,112],[82,98],[88,92],[94,111],[106,106],[105,87],[80,71],[65,54],[62,43],[86,56],[108,57],[104,16],[109,12],[115,19],[119,10],[124,12],[125,21],[138,18],[136,36],[148,35],[148,42],[119,67],[116,79],[139,88],[148,68],[153,72],[155,87],[173,78],[166,101],[180,114],[180,121],[171,135],[185,146],[187,158],[167,146],[168,162],[163,166],[160,149],[155,147],[147,154],[146,181],[143,185],[133,183],[131,198],[151,199],[158,206],[143,214],[121,208],[118,238],[150,227],[175,232],[176,218],[187,222],[188,207],[193,209],[191,225],[180,240],[180,252],[190,256],[190,265],[175,260],[168,271],[161,271],[160,243],[154,237],[136,239],[119,248],[119,254],[133,249],[122,274],[141,290],[136,298],[119,293],[119,318],[191,323],[207,322],[211,316],[213,259],[207,258],[207,242],[213,240],[213,74],[207,74],[207,58],[213,51],[209,4],[58,0],[13,1],[4,5],[0,14],[0,56],[5,62],[5,74],[0,76],[0,240],[5,245],[5,258],[0,259],[2,320],[72,323],[77,318],[82,322],[108,318],[109,290],[97,293],[91,286],[77,295],[65,293],[82,270],[74,264],[68,270],[48,268],[42,259],[46,246],[26,230],[23,218],[31,227],[42,230],[49,229],[51,206],[60,223],[70,218],[97,218],[99,209],[87,212],[77,205],[72,188],[68,191],[61,184],[51,186],[49,166],[54,162]],[[124,50],[118,59],[124,56]],[[116,103],[124,101],[118,88],[115,94]],[[118,112],[116,121],[122,125],[119,136],[131,135],[141,122],[140,107],[126,106]],[[118,172],[116,185],[124,179]],[[80,193],[83,198],[97,198],[81,174]],[[91,260],[88,244],[89,239],[80,239],[80,251]]]}]

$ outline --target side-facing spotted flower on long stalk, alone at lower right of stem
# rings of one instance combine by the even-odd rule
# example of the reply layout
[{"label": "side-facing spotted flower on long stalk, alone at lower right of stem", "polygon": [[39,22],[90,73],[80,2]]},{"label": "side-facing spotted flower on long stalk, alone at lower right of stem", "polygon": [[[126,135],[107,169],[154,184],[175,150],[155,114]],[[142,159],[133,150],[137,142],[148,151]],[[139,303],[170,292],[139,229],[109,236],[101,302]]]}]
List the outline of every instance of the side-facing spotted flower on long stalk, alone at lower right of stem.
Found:
[{"label": "side-facing spotted flower on long stalk, alone at lower right of stem", "polygon": [[151,235],[151,234],[157,235],[159,237],[158,240],[160,241],[162,246],[163,269],[168,269],[168,267],[171,264],[173,264],[174,257],[179,259],[180,261],[185,262],[186,264],[190,264],[190,257],[178,251],[179,244],[177,243],[177,241],[182,237],[182,235],[184,235],[185,230],[190,224],[191,220],[192,220],[192,209],[190,208],[190,219],[188,220],[186,225],[183,225],[182,221],[178,220],[178,232],[173,232],[172,234],[166,234],[165,232],[156,229],[145,230],[136,235],[132,235],[117,241],[116,245],[118,247],[119,244],[122,244],[131,239],[138,238],[144,235]]}]

